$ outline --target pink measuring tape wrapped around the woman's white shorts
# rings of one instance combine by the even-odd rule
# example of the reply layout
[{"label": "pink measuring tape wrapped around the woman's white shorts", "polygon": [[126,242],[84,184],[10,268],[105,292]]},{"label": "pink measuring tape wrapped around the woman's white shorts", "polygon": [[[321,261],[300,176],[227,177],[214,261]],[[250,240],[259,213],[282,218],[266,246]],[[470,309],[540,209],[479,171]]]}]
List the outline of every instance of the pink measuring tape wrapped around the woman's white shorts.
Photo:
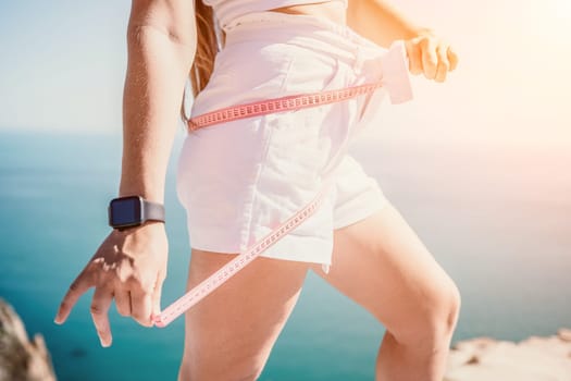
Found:
[{"label": "pink measuring tape wrapped around the woman's white shorts", "polygon": [[[378,61],[382,65],[383,78],[377,83],[233,106],[195,116],[188,122],[188,127],[189,130],[195,131],[218,123],[231,122],[272,112],[299,110],[339,102],[361,95],[371,94],[380,87],[385,87],[387,89],[392,103],[401,103],[410,100],[412,98],[412,89],[408,74],[405,44],[402,41],[396,41],[390,49],[380,56]],[[328,182],[325,182],[325,184],[328,184]],[[154,325],[162,328],[171,323],[208,294],[221,286],[231,276],[244,269],[244,267],[250,263],[270,246],[275,244],[284,235],[311,217],[323,201],[327,187],[328,186],[324,186],[310,204],[275,228],[262,239],[251,245],[245,251],[238,254],[236,258],[224,265],[220,270],[166,307],[160,315],[154,316],[152,319]]]}]

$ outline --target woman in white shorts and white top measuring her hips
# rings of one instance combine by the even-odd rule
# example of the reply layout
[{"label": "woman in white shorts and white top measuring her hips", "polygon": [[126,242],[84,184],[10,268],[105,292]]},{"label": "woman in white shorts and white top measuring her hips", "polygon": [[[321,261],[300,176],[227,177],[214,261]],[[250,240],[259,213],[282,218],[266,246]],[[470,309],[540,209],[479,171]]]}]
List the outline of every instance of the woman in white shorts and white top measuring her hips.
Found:
[{"label": "woman in white shorts and white top measuring her hips", "polygon": [[[223,32],[218,56],[208,4]],[[444,82],[457,64],[446,42],[383,1],[202,0],[196,7],[189,0],[133,1],[120,196],[163,202],[191,66],[196,116],[378,79],[380,61],[373,56],[381,48],[373,42],[388,47],[397,39],[406,41],[412,74]],[[187,311],[181,380],[258,378],[309,269],[386,327],[376,379],[442,380],[459,292],[346,152],[378,101],[360,97],[187,135],[177,192],[193,246],[188,287],[307,205],[325,177],[334,186],[314,216]],[[113,298],[122,316],[152,325],[167,256],[158,220],[110,233],[72,283],[58,323],[94,286],[91,315],[103,346],[111,345],[107,312]]]}]

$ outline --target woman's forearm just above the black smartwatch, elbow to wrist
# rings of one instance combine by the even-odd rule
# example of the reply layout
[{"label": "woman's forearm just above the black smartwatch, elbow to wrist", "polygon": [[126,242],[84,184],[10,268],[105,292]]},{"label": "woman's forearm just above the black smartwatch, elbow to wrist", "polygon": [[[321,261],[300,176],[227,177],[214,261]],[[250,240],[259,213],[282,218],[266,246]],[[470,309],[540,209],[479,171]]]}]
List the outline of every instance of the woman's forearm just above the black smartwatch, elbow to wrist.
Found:
[{"label": "woman's forearm just above the black smartwatch, elbow to wrist", "polygon": [[193,42],[173,40],[157,25],[129,25],[120,196],[164,200],[166,167],[195,54]]}]

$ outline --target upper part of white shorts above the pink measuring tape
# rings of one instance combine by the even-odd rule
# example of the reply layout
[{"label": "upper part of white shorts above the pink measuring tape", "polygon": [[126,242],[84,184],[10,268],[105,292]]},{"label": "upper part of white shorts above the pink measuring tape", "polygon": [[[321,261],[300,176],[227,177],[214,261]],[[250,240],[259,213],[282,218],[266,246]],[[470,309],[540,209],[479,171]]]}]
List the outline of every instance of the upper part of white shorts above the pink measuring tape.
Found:
[{"label": "upper part of white shorts above the pink measuring tape", "polygon": [[367,65],[386,49],[348,26],[313,15],[257,12],[228,26],[209,84],[191,115],[288,95],[344,88],[381,78]]}]

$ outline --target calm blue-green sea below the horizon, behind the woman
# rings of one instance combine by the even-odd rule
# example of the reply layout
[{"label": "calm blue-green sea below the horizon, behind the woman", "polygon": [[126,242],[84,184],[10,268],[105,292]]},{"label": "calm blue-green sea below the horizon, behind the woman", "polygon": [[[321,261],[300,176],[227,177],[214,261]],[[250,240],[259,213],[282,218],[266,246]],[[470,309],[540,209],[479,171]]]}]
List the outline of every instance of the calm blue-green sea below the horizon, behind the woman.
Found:
[{"label": "calm blue-green sea below the horizon, behind the woman", "polygon": [[[182,133],[167,174],[163,306],[184,292],[190,250],[174,190],[181,142]],[[454,342],[571,328],[569,147],[362,140],[352,150],[458,284]],[[120,162],[120,135],[0,133],[0,297],[30,334],[45,335],[59,380],[176,379],[182,319],[147,329],[112,308],[113,345],[102,348],[88,293],[64,325],[53,323],[69,284],[109,233]],[[261,380],[372,380],[383,333],[310,273]]]}]

